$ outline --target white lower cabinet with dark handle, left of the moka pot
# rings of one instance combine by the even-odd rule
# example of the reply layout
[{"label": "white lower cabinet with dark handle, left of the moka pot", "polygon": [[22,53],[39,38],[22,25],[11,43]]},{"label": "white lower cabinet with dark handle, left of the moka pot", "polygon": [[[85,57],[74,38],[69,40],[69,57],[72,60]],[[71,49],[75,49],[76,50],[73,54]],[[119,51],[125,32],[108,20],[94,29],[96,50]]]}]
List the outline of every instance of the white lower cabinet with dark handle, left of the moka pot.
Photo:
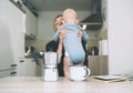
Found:
[{"label": "white lower cabinet with dark handle, left of the moka pot", "polygon": [[17,76],[35,76],[37,64],[33,59],[21,59],[17,66]]}]

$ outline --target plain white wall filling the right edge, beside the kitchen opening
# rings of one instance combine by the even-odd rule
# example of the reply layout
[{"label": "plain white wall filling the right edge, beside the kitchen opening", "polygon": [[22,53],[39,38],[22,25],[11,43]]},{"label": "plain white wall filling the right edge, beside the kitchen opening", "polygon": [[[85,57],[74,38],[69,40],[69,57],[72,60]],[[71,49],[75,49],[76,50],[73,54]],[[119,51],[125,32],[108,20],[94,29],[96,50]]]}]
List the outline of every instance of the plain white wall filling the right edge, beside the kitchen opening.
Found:
[{"label": "plain white wall filling the right edge, beside the kitchen opening", "polygon": [[109,73],[133,73],[133,0],[108,0]]}]

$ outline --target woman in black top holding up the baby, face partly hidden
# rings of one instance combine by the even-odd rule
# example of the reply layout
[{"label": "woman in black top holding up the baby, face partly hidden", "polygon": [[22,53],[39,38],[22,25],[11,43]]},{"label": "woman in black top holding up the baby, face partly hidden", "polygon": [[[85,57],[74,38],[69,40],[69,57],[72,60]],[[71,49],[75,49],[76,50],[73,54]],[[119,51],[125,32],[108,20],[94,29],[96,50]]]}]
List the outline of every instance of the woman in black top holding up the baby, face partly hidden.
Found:
[{"label": "woman in black top holding up the baby, face partly hidden", "polygon": [[[62,24],[62,20],[63,20],[62,14],[59,14],[59,16],[55,17],[54,23],[53,23],[54,31],[57,31],[59,29],[59,27]],[[47,51],[54,51],[54,52],[58,52],[58,53],[62,53],[61,61],[60,61],[60,63],[58,63],[59,76],[64,76],[64,72],[63,72],[64,50],[63,50],[62,40],[63,40],[66,32],[68,32],[66,30],[63,30],[59,34],[59,42],[50,41],[45,45]]]}]

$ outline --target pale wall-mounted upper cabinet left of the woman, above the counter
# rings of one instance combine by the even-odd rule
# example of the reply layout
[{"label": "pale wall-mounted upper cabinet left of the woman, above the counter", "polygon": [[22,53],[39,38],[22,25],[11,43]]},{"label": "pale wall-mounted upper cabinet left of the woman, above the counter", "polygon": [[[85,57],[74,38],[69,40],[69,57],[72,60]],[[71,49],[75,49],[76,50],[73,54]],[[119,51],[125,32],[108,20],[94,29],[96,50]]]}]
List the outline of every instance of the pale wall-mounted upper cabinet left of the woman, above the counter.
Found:
[{"label": "pale wall-mounted upper cabinet left of the woman, above the counter", "polygon": [[37,17],[23,4],[22,9],[25,11],[25,37],[35,38],[38,30]]}]

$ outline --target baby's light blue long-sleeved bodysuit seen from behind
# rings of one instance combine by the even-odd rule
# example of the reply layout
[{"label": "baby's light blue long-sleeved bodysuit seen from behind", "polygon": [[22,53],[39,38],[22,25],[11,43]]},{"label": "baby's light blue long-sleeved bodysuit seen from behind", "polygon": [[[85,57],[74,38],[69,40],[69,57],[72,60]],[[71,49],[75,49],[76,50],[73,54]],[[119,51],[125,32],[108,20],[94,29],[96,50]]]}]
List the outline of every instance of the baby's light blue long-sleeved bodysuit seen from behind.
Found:
[{"label": "baby's light blue long-sleeved bodysuit seen from behind", "polygon": [[85,31],[83,31],[83,29],[80,25],[64,23],[59,28],[59,30],[53,35],[53,41],[58,42],[59,32],[62,29],[69,30],[69,33],[63,39],[63,45],[64,45],[65,52],[69,54],[69,58],[70,58],[72,64],[84,62],[85,51],[83,49],[81,39],[78,35],[78,31],[81,30],[83,32],[82,39],[83,39],[83,41],[85,41],[85,43],[88,43],[89,35],[85,33]]}]

